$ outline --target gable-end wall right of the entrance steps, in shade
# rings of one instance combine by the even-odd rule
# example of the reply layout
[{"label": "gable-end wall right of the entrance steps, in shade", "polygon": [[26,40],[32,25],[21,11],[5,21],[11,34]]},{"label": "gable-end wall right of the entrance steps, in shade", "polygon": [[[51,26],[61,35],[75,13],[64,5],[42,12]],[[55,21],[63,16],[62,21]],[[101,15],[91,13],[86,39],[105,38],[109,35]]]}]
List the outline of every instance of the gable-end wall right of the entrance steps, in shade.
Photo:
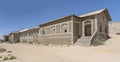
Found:
[{"label": "gable-end wall right of the entrance steps, in shade", "polygon": [[[97,21],[97,28],[98,28],[97,38],[99,40],[108,39],[108,37],[109,37],[109,21],[107,20],[105,13],[103,12],[103,13],[99,14],[97,20],[98,20]],[[102,28],[100,28],[100,26]],[[101,31],[100,31],[100,29],[101,29]]]}]

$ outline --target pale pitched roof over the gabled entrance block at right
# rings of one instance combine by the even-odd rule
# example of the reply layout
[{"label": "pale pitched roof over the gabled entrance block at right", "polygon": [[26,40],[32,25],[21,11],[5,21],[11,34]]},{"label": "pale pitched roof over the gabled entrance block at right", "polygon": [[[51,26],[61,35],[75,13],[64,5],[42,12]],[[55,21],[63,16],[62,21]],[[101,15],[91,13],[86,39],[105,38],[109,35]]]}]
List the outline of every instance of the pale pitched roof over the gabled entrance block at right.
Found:
[{"label": "pale pitched roof over the gabled entrance block at right", "polygon": [[109,21],[111,21],[111,17],[110,17],[110,14],[108,12],[108,10],[106,8],[104,9],[100,9],[100,10],[97,10],[97,11],[93,11],[93,12],[89,12],[89,13],[86,13],[86,14],[83,14],[83,15],[80,15],[79,17],[87,17],[87,16],[92,16],[92,15],[97,15],[97,14],[100,14],[102,12],[105,12],[105,14],[107,14],[107,18]]}]

